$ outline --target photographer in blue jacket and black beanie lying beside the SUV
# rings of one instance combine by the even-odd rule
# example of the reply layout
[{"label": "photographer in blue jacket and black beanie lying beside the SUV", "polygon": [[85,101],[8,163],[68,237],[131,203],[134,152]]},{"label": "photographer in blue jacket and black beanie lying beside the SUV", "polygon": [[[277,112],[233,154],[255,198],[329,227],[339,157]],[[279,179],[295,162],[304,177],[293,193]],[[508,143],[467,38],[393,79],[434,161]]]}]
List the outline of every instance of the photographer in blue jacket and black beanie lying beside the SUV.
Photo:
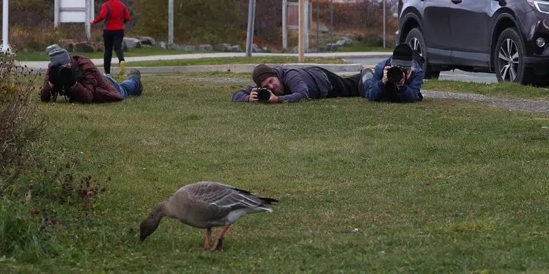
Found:
[{"label": "photographer in blue jacket and black beanie lying beside the SUV", "polygon": [[422,101],[423,70],[414,59],[421,60],[421,56],[402,43],[395,47],[390,58],[375,66],[374,72],[362,69],[366,99],[398,103]]}]

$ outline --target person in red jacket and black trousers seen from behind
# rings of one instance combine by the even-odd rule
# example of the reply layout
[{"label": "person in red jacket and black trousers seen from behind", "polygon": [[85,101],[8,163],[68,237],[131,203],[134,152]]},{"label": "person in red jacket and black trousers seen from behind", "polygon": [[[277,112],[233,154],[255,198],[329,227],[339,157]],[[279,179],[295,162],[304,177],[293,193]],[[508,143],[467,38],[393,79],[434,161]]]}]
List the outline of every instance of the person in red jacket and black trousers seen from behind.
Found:
[{"label": "person in red jacket and black trousers seen from behind", "polygon": [[122,51],[124,39],[124,23],[130,21],[128,7],[120,0],[108,0],[101,5],[101,12],[97,18],[90,21],[91,25],[105,21],[103,27],[103,40],[105,44],[104,74],[110,75],[110,62],[113,58],[113,47],[120,64],[119,75],[126,73],[126,61]]}]

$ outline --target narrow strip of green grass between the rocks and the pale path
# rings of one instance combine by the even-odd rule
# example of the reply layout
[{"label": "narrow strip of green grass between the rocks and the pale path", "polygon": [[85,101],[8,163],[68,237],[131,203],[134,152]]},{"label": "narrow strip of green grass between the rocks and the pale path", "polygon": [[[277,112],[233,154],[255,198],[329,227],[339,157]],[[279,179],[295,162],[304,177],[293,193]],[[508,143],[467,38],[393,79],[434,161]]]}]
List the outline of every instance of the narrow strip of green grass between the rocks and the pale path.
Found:
[{"label": "narrow strip of green grass between the rocks and the pale path", "polygon": [[[135,57],[135,56],[148,56],[148,55],[177,55],[177,54],[189,54],[189,53],[200,53],[201,51],[179,51],[176,49],[161,49],[159,47],[140,47],[135,49],[130,49],[124,51],[124,57]],[[73,55],[84,55],[87,58],[103,58],[103,51],[90,52],[71,52]],[[116,54],[113,51],[113,56],[116,58]],[[29,51],[29,52],[18,52],[16,56],[17,61],[19,62],[30,62],[30,61],[49,61],[49,57],[45,51]]]}]

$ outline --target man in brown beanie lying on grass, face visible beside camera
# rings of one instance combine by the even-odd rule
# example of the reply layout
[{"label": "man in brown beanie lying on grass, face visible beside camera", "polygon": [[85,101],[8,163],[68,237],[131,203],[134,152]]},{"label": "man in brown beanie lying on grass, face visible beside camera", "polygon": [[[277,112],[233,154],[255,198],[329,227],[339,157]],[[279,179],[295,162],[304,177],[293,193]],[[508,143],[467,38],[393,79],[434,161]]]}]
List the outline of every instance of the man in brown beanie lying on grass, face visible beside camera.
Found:
[{"label": "man in brown beanie lying on grass, face visible beside camera", "polygon": [[364,97],[360,84],[360,73],[351,77],[340,77],[319,66],[304,69],[271,68],[259,64],[252,73],[255,86],[248,86],[233,94],[233,102],[255,102],[258,88],[267,88],[269,103],[297,103],[307,99],[332,97]]}]

